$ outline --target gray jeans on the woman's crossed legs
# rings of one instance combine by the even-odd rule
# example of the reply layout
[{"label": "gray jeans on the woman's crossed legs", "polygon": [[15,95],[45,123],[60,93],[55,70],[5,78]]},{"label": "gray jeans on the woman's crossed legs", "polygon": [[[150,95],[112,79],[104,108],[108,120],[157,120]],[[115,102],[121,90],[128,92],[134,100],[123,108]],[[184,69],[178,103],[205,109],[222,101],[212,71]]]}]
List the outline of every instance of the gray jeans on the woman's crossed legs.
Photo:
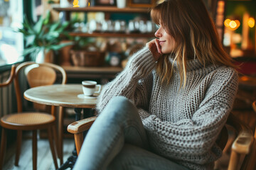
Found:
[{"label": "gray jeans on the woman's crossed legs", "polygon": [[137,108],[123,96],[107,104],[90,128],[74,170],[186,169],[149,151]]}]

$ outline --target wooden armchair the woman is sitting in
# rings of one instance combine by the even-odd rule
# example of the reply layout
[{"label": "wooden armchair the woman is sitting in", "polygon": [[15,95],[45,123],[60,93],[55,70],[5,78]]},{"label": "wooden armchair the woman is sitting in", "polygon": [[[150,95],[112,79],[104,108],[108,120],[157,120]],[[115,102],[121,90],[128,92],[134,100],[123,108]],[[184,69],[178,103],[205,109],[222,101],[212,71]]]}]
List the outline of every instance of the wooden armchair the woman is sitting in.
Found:
[{"label": "wooden armchair the woman is sitting in", "polygon": [[[89,130],[92,123],[96,120],[97,117],[86,118],[83,120],[78,120],[74,123],[68,125],[68,132],[74,134],[75,138],[75,147],[79,154],[82,147],[83,132]],[[255,157],[252,155],[252,144],[254,142],[252,136],[252,130],[242,123],[238,118],[230,113],[226,125],[232,126],[235,129],[235,140],[233,141],[231,149],[230,161],[228,163],[228,170],[235,169],[247,169],[253,170]],[[221,149],[224,149],[228,145],[228,129],[225,127],[220,132],[218,140],[216,143],[220,146]],[[226,148],[225,148],[226,149]]]}]

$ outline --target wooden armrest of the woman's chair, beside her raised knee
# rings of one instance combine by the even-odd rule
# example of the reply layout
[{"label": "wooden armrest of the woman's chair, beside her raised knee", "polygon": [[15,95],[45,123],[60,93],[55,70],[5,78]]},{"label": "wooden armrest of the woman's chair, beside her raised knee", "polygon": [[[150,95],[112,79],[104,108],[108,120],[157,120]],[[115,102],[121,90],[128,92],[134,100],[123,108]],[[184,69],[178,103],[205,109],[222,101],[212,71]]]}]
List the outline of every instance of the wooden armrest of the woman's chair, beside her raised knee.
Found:
[{"label": "wooden armrest of the woman's chair, beside her raised knee", "polygon": [[96,120],[97,116],[93,116],[90,118],[85,118],[82,120],[75,121],[68,125],[68,132],[77,134],[80,132],[84,132],[85,130],[89,130],[92,123]]}]

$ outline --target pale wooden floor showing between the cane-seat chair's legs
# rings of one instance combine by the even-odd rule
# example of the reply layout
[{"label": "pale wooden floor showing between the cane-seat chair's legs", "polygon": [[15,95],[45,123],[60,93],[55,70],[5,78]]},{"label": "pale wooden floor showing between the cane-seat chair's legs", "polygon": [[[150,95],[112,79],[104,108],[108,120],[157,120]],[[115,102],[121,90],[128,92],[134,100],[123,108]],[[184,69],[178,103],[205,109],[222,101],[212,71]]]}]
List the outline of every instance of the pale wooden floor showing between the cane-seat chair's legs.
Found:
[{"label": "pale wooden floor showing between the cane-seat chair's legs", "polygon": [[[26,139],[22,141],[21,157],[19,160],[19,166],[14,166],[15,160],[15,142],[14,145],[6,149],[6,157],[4,163],[4,170],[31,170],[32,169],[32,140]],[[63,141],[63,162],[72,154],[74,149],[73,139],[64,139]],[[46,139],[38,139],[38,170],[53,170],[55,166],[53,164],[53,157],[50,152],[49,142]],[[60,162],[58,161],[60,167]]]}]

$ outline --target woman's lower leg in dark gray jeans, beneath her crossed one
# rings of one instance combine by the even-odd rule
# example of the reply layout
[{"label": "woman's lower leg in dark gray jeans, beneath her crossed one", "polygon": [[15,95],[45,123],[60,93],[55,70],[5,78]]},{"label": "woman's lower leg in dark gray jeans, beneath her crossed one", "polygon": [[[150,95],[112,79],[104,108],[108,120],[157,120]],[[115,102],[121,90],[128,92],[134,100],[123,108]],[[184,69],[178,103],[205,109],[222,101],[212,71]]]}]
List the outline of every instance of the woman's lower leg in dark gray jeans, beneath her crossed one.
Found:
[{"label": "woman's lower leg in dark gray jeans, beneath her crossed one", "polygon": [[123,149],[113,159],[107,170],[188,170],[186,167],[171,162],[134,145],[124,144]]}]

